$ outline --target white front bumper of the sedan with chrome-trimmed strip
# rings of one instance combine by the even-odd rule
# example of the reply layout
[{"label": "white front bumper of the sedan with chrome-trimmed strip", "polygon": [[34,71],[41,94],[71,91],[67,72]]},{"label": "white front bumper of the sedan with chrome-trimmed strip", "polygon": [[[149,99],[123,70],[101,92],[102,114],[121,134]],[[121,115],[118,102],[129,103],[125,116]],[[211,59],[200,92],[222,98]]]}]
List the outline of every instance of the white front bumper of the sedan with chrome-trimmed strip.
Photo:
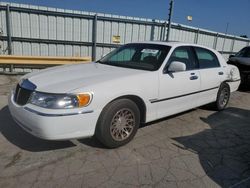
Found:
[{"label": "white front bumper of the sedan with chrome-trimmed strip", "polygon": [[49,110],[31,104],[19,106],[13,93],[9,97],[9,110],[24,130],[46,140],[91,137],[99,117],[98,111],[90,109]]}]

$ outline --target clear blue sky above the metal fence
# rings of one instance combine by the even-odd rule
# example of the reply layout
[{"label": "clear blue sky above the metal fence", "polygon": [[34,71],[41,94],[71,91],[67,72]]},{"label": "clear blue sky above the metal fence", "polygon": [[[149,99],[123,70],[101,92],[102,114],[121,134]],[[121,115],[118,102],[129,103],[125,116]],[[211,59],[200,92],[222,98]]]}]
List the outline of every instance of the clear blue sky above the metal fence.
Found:
[{"label": "clear blue sky above the metal fence", "polygon": [[[56,8],[166,19],[169,0],[5,0]],[[191,15],[192,22],[186,17]],[[250,38],[250,0],[174,0],[173,22]]]}]

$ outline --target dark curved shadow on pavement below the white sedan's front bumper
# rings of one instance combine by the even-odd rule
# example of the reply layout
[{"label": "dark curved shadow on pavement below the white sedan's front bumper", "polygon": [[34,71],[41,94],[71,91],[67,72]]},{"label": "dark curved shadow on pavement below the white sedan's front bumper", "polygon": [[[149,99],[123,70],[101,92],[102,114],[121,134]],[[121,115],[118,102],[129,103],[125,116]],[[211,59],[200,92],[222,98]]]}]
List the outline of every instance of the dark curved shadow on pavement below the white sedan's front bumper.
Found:
[{"label": "dark curved shadow on pavement below the white sedan's front bumper", "polygon": [[42,140],[25,132],[12,119],[8,106],[5,106],[0,110],[0,132],[12,144],[23,150],[32,152],[48,151],[75,146],[75,144],[71,141]]}]

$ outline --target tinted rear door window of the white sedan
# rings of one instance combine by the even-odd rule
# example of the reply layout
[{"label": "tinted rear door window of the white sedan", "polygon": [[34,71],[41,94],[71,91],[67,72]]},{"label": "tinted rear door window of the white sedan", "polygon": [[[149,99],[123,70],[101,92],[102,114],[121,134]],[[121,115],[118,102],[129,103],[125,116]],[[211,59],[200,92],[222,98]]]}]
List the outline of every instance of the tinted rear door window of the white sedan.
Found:
[{"label": "tinted rear door window of the white sedan", "polygon": [[220,63],[213,52],[198,47],[195,47],[194,49],[201,69],[220,67]]}]

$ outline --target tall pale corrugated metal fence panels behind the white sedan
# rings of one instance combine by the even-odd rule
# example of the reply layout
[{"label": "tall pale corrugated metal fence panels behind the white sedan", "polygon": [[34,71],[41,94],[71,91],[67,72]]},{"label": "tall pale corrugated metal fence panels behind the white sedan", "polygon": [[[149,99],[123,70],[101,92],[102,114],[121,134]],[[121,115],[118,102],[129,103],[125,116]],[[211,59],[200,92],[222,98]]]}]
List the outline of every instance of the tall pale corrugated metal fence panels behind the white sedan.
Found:
[{"label": "tall pale corrugated metal fence panels behind the white sedan", "polygon": [[[0,2],[0,54],[7,46],[6,5]],[[15,55],[91,56],[96,45],[100,58],[118,46],[113,36],[120,36],[120,44],[144,40],[164,40],[164,21],[98,14],[96,44],[94,44],[94,15],[96,13],[56,9],[10,3],[12,52]],[[167,30],[167,29],[166,29]],[[163,36],[165,33],[165,36]],[[218,35],[218,39],[217,39]],[[173,23],[170,40],[198,43],[226,54],[235,53],[249,39],[226,36],[208,30]],[[224,43],[224,49],[222,49]]]}]

